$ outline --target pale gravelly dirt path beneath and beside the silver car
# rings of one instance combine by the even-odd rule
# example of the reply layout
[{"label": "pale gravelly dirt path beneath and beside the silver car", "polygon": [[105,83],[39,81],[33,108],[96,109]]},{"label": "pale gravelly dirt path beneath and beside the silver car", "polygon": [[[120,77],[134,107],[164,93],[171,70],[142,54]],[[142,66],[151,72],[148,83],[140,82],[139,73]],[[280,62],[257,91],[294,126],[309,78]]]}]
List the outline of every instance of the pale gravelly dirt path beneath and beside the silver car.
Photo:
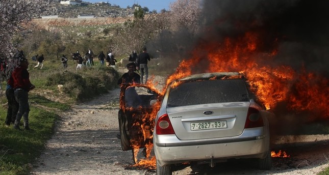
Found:
[{"label": "pale gravelly dirt path beneath and beside the silver car", "polygon": [[[32,174],[155,174],[132,167],[132,153],[121,150],[118,134],[119,89],[94,100],[74,105],[61,114],[52,139],[34,165]],[[261,171],[250,161],[208,165],[182,165],[173,174],[316,174],[329,164],[329,136],[302,136],[299,143],[278,138],[276,149],[289,158],[273,158],[273,168]],[[304,142],[303,142],[304,141]],[[289,143],[289,144],[283,144]]]}]

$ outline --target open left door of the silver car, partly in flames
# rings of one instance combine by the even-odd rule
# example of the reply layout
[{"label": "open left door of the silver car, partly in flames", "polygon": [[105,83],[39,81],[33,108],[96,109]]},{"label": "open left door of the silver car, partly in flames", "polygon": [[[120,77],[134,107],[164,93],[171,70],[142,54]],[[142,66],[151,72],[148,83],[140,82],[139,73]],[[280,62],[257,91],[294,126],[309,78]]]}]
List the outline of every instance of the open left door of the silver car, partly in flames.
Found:
[{"label": "open left door of the silver car, partly in flames", "polygon": [[144,84],[121,86],[118,118],[122,151],[144,148],[152,141],[154,121],[149,118],[158,97]]}]

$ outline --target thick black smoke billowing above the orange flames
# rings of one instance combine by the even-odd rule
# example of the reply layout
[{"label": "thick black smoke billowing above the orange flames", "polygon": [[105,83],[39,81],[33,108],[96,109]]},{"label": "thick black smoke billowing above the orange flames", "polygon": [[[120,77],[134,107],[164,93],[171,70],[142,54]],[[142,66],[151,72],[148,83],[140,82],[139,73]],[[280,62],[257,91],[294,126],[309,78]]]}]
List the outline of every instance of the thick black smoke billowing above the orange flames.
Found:
[{"label": "thick black smoke billowing above the orange flames", "polygon": [[[207,0],[201,1],[200,30],[190,34],[164,32],[149,44],[166,59],[188,59],[193,49],[204,43],[222,43],[225,38],[238,39],[246,32],[260,35],[259,52],[277,49],[271,60],[260,62],[288,65],[296,71],[305,66],[328,76],[329,1],[308,0]],[[186,26],[184,26],[186,27]],[[211,30],[209,30],[211,28]],[[206,55],[206,53],[205,53]],[[203,57],[200,53],[200,57]],[[270,63],[269,63],[270,62]]]}]

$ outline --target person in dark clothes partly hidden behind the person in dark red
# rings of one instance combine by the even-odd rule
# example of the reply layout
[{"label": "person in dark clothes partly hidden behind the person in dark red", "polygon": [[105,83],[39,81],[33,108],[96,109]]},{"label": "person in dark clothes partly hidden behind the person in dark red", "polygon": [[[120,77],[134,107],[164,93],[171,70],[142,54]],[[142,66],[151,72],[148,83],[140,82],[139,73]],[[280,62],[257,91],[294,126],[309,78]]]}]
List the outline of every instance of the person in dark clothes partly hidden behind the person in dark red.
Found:
[{"label": "person in dark clothes partly hidden behind the person in dark red", "polygon": [[11,76],[13,70],[7,68],[6,70],[6,80],[7,80],[7,88],[6,88],[6,98],[8,101],[8,109],[7,109],[7,117],[6,117],[6,125],[10,126],[10,124],[14,124],[16,120],[16,115],[18,112],[19,104],[15,99],[15,90],[9,84],[9,82],[13,82],[13,78]]}]

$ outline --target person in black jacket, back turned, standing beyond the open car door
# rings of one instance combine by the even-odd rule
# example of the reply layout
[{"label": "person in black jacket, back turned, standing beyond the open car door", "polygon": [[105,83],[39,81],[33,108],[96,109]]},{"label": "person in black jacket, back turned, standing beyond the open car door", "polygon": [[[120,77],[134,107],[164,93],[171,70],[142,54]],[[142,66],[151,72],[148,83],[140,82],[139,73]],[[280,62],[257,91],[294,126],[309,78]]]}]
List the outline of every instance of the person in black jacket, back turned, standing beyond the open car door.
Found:
[{"label": "person in black jacket, back turned, standing beyond the open car door", "polygon": [[[147,61],[150,61],[149,54],[146,52],[146,47],[143,48],[143,52],[138,55],[137,59],[137,70],[141,70],[140,74],[140,81],[141,83],[146,84],[148,78],[148,68],[147,68]],[[143,81],[143,76],[145,72],[145,81]]]}]

